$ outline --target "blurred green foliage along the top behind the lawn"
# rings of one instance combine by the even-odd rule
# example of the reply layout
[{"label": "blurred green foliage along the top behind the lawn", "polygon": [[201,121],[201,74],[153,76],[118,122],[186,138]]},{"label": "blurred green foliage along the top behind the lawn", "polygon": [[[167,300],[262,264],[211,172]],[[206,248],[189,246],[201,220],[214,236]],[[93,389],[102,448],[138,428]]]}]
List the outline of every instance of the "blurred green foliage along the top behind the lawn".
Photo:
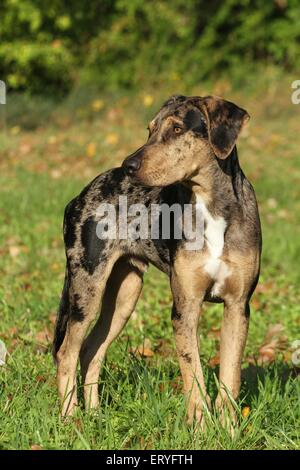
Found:
[{"label": "blurred green foliage along the top behind the lawn", "polygon": [[0,77],[61,94],[164,77],[194,84],[257,63],[300,66],[299,0],[1,0]]}]

